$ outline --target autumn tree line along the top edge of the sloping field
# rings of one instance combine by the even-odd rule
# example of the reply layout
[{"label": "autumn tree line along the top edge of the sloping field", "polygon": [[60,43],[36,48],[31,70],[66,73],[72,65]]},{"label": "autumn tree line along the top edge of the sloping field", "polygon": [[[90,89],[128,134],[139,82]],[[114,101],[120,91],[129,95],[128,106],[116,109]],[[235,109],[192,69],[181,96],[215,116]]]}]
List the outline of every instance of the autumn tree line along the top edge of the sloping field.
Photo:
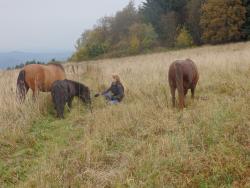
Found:
[{"label": "autumn tree line along the top edge of the sloping field", "polygon": [[86,30],[71,60],[249,39],[250,0],[146,0],[138,9],[130,1]]}]

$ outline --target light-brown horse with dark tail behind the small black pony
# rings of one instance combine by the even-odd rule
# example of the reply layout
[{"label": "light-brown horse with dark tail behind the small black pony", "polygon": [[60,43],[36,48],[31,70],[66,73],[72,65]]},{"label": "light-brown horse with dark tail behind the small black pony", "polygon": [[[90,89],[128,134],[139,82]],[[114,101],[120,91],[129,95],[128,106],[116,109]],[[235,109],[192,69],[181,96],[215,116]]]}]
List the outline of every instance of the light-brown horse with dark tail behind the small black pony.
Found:
[{"label": "light-brown horse with dark tail behind the small black pony", "polygon": [[23,101],[30,88],[33,91],[33,98],[35,98],[39,91],[49,92],[54,81],[65,78],[65,71],[61,64],[26,65],[20,71],[17,79],[17,95]]}]

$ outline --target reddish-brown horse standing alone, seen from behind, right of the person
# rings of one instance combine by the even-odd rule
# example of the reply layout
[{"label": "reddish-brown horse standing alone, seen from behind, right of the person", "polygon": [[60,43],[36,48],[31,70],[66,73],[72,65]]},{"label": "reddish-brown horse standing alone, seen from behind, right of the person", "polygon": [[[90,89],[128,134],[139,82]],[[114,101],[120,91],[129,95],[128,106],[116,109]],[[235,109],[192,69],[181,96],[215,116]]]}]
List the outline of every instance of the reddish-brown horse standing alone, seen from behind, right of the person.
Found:
[{"label": "reddish-brown horse standing alone, seen from behind, right of the person", "polygon": [[188,89],[191,89],[193,99],[198,80],[199,73],[195,63],[192,60],[177,60],[170,65],[168,72],[168,81],[174,107],[175,90],[178,90],[179,108],[183,109],[185,107],[184,98],[187,95]]}]

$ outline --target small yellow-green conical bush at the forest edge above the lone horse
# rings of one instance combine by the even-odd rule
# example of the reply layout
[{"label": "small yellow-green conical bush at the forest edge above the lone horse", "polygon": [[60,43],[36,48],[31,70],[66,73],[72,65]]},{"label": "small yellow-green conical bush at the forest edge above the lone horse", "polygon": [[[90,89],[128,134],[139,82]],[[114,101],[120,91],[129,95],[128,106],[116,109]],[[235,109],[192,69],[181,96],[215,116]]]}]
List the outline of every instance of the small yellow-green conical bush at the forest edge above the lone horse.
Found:
[{"label": "small yellow-green conical bush at the forest edge above the lone horse", "polygon": [[194,42],[191,34],[185,27],[183,27],[176,38],[175,46],[178,48],[186,48],[192,46],[193,44]]}]

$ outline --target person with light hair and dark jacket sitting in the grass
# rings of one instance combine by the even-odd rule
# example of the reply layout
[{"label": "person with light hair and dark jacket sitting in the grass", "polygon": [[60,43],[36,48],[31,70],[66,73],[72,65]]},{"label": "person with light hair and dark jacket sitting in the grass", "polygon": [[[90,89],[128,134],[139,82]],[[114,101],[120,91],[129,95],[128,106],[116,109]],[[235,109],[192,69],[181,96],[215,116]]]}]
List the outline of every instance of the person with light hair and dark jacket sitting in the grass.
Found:
[{"label": "person with light hair and dark jacket sitting in the grass", "polygon": [[111,86],[102,95],[110,104],[118,104],[124,98],[124,87],[118,75],[112,75],[113,81]]}]

